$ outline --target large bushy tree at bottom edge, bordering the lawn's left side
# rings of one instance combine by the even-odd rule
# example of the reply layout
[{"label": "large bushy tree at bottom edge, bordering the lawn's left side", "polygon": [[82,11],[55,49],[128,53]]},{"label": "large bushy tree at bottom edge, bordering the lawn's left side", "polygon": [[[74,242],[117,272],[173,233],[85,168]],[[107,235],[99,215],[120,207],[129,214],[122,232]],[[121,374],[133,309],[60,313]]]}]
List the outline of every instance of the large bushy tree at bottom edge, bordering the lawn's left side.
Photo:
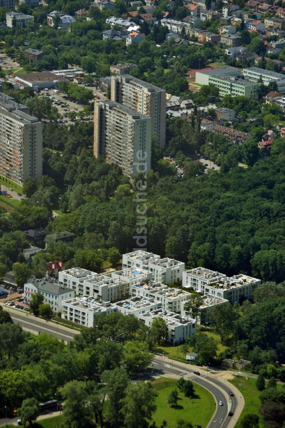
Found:
[{"label": "large bushy tree at bottom edge, bordering the lawn's left side", "polygon": [[155,398],[156,392],[150,382],[129,384],[121,410],[124,418],[123,426],[146,428],[156,410]]}]

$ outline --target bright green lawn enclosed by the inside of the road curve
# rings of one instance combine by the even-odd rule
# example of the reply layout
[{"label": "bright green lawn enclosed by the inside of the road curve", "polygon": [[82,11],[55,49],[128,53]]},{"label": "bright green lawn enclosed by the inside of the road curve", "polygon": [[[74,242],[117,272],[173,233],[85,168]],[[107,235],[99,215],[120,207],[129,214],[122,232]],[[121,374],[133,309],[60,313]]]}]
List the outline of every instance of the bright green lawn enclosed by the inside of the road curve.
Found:
[{"label": "bright green lawn enclosed by the inside of the road curve", "polygon": [[214,397],[210,392],[200,385],[194,383],[194,398],[187,398],[179,392],[178,403],[174,407],[167,404],[170,391],[176,388],[177,380],[162,377],[152,382],[158,396],[156,397],[157,410],[153,415],[156,425],[161,425],[165,419],[168,428],[176,428],[177,421],[183,419],[192,422],[195,426],[206,427],[216,409]]}]

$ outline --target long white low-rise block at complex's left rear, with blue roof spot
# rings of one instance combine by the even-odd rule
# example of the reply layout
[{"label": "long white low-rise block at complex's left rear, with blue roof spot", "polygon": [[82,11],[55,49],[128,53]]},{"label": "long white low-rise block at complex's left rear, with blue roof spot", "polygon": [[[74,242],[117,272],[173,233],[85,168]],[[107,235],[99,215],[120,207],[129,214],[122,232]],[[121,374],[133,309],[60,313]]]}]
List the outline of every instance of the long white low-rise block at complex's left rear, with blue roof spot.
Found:
[{"label": "long white low-rise block at complex's left rear, with blue roof spot", "polygon": [[117,270],[105,275],[82,268],[59,272],[59,284],[72,288],[79,296],[114,302],[131,295],[132,285],[152,278],[150,272],[132,268]]}]

